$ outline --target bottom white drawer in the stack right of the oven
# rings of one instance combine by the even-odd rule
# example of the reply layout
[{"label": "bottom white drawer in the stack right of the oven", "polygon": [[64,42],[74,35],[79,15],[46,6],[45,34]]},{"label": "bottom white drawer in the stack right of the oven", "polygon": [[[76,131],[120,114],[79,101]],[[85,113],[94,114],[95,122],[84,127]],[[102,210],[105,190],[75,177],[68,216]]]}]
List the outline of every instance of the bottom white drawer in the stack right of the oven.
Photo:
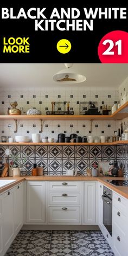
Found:
[{"label": "bottom white drawer in the stack right of the oven", "polygon": [[127,236],[114,222],[113,230],[112,230],[112,241],[113,241],[113,249],[114,253],[118,256],[126,256],[127,255]]}]

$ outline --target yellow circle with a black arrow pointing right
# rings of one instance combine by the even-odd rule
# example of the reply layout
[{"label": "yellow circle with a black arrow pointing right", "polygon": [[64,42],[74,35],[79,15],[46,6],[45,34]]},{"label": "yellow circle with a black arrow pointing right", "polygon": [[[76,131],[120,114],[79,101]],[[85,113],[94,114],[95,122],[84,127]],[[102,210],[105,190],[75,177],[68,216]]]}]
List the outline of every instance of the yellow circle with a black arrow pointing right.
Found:
[{"label": "yellow circle with a black arrow pointing right", "polygon": [[69,42],[67,39],[61,39],[57,42],[57,50],[60,53],[68,53],[71,50],[71,42]]}]

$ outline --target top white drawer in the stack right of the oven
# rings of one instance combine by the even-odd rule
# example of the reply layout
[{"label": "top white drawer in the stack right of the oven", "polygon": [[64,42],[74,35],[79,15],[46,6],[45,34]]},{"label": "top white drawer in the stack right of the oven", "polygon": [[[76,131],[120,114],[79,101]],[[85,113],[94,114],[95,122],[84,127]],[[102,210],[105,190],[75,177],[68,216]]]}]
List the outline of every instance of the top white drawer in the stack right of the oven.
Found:
[{"label": "top white drawer in the stack right of the oven", "polygon": [[116,206],[120,212],[127,215],[128,200],[113,192],[113,206]]}]

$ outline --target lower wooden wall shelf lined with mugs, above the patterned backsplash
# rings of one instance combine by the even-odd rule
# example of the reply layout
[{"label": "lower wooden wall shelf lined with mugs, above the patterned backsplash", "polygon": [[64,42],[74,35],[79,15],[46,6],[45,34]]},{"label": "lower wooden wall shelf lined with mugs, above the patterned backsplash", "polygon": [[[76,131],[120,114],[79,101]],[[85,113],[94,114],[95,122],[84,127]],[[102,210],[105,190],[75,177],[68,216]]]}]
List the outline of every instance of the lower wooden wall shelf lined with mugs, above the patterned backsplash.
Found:
[{"label": "lower wooden wall shelf lined with mugs, above the patterned backsplash", "polygon": [[9,142],[0,142],[0,146],[1,145],[10,145],[10,146],[13,146],[13,145],[17,145],[17,146],[20,146],[20,145],[24,145],[24,146],[33,146],[33,145],[37,145],[37,146],[103,146],[103,145],[125,145],[125,144],[128,144],[128,140],[120,140],[120,141],[117,141],[117,142],[105,142],[105,143],[59,143],[59,142],[52,142],[52,143],[49,143],[49,142],[39,142],[39,143],[33,143],[33,142],[12,142],[12,143],[9,143]]}]

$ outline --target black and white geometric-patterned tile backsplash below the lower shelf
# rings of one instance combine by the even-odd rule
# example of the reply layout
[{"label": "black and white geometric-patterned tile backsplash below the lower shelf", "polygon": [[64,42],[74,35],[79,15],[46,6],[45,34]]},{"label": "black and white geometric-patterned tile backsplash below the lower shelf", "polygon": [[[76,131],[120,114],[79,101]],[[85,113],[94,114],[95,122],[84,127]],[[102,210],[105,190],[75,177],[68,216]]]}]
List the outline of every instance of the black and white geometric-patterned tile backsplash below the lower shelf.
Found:
[{"label": "black and white geometric-patterned tile backsplash below the lower shelf", "polygon": [[[120,161],[118,146],[9,146],[9,149],[21,159],[27,155],[23,175],[31,175],[33,163],[43,166],[44,175],[65,175],[67,169],[77,169],[79,175],[86,175],[86,169],[92,168],[94,162]],[[5,146],[0,146],[0,157],[2,160],[5,157]]]}]

